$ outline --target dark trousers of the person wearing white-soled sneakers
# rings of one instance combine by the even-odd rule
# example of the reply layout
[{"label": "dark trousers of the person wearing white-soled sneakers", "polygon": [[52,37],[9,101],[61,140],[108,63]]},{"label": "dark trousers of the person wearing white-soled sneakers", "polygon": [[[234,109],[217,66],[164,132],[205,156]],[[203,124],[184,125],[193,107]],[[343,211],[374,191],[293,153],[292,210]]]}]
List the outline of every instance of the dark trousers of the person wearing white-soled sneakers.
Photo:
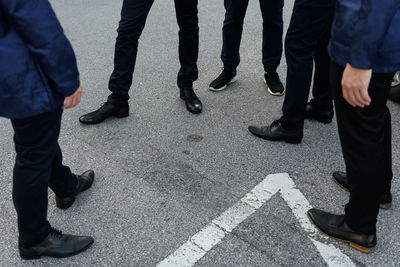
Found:
[{"label": "dark trousers of the person wearing white-soled sneakers", "polygon": [[[225,21],[221,59],[226,71],[234,71],[240,62],[240,41],[249,0],[224,0]],[[284,0],[260,0],[263,17],[263,65],[266,72],[276,72],[282,57]]]}]

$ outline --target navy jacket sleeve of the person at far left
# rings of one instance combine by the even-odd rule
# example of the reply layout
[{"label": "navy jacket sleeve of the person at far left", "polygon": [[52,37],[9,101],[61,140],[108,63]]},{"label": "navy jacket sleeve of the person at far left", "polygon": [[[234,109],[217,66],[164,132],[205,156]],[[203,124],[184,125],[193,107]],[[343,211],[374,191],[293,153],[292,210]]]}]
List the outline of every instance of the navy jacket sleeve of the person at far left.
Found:
[{"label": "navy jacket sleeve of the person at far left", "polygon": [[52,89],[72,95],[79,87],[75,54],[48,0],[0,0],[0,9]]}]

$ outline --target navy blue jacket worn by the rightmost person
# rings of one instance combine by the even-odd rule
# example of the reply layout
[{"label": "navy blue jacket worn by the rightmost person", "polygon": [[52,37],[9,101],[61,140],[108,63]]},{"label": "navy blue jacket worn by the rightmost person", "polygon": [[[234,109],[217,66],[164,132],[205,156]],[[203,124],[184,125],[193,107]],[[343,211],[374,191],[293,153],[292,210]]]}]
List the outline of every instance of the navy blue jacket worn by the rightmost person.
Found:
[{"label": "navy blue jacket worn by the rightmost person", "polygon": [[400,0],[337,0],[329,54],[343,67],[400,70]]}]

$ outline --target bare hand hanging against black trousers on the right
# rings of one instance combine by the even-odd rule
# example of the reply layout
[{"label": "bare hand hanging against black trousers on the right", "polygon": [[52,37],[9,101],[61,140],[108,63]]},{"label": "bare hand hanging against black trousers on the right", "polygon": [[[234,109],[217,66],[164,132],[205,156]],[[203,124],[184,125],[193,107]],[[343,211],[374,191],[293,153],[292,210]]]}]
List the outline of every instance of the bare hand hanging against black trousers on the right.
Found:
[{"label": "bare hand hanging against black trousers on the right", "polygon": [[368,87],[371,81],[372,70],[353,68],[346,65],[342,78],[343,97],[353,107],[363,108],[371,104]]}]

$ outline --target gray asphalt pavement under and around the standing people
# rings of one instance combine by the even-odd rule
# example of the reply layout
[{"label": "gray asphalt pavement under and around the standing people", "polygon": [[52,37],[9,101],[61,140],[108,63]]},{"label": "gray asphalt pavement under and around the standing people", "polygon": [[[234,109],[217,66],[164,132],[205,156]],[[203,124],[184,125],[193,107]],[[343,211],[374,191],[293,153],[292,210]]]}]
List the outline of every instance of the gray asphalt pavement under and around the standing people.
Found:
[{"label": "gray asphalt pavement under and around the standing people", "polygon": [[[64,232],[90,234],[95,243],[72,258],[22,261],[17,254],[16,213],[12,205],[14,148],[8,120],[0,119],[0,266],[154,266],[233,206],[268,174],[287,172],[310,204],[341,213],[348,199],[330,179],[343,169],[336,123],[307,121],[300,145],[254,138],[251,124],[280,116],[283,97],[270,96],[262,80],[262,20],[250,1],[242,41],[239,81],[226,91],[207,90],[219,74],[223,1],[202,0],[199,79],[204,104],[192,115],[179,99],[177,31],[173,1],[155,1],[140,39],[131,115],[82,126],[81,114],[106,100],[121,0],[52,0],[78,58],[84,94],[64,114],[60,144],[65,163],[77,173],[96,171],[96,181],[72,208],[56,209],[49,196],[49,220]],[[289,23],[293,0],[285,6]],[[284,59],[279,68],[286,76]],[[365,255],[341,249],[357,266],[400,264],[399,157],[393,114],[394,205],[382,211],[378,246]],[[324,240],[324,239],[321,239]],[[196,266],[325,266],[307,234],[279,195],[241,223]]]}]

